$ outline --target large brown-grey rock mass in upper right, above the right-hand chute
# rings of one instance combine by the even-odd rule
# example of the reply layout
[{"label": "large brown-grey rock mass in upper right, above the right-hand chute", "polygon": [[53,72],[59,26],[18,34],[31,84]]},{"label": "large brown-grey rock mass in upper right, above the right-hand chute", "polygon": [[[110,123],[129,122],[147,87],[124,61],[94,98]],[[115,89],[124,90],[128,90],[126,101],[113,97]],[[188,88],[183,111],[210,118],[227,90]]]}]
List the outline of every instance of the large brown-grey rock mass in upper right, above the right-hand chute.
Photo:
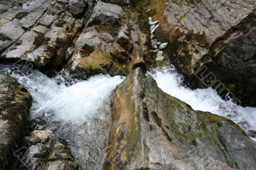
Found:
[{"label": "large brown-grey rock mass in upper right, above the right-hand chute", "polygon": [[221,86],[223,97],[230,92],[243,105],[256,105],[254,4],[154,0],[150,9],[160,24],[156,37],[170,42],[166,52],[194,88]]}]

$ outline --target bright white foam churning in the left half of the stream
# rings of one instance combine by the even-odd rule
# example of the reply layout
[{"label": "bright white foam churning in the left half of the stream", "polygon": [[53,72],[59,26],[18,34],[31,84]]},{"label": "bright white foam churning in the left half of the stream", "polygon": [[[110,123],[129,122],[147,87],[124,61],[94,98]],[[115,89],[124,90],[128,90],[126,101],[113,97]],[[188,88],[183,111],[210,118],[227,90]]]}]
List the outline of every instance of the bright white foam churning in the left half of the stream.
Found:
[{"label": "bright white foam churning in the left half of the stream", "polygon": [[[67,87],[63,80],[50,79],[43,73],[33,71],[26,75],[12,73],[33,98],[31,118],[51,116],[56,121],[81,123],[86,116],[93,116],[104,107],[104,102],[124,77],[95,75],[87,81],[74,81]],[[59,77],[60,75],[58,75]]]}]

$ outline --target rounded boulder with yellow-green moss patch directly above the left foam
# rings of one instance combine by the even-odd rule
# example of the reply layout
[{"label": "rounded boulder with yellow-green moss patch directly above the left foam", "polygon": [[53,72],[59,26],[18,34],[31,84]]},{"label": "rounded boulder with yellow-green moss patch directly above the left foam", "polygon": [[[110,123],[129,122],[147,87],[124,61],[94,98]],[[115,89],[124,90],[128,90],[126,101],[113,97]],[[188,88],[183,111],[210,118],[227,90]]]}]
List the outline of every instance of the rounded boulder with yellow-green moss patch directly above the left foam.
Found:
[{"label": "rounded boulder with yellow-green moss patch directly above the left foam", "polygon": [[77,76],[80,78],[84,74],[88,77],[98,73],[125,74],[124,68],[112,58],[122,53],[113,44],[114,38],[109,33],[97,31],[95,27],[84,28],[76,41],[76,49],[68,61],[68,68],[79,73]]}]

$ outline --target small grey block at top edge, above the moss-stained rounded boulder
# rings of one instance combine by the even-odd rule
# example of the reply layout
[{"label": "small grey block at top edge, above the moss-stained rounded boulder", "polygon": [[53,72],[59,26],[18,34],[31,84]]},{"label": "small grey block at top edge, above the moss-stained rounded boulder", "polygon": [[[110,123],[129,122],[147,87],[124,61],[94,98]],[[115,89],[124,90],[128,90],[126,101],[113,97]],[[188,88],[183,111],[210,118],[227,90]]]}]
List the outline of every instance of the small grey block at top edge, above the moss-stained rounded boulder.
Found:
[{"label": "small grey block at top edge, above the moss-stained rounded boulder", "polygon": [[116,4],[102,3],[99,1],[95,6],[92,16],[87,22],[88,26],[93,24],[106,24],[108,26],[120,25],[120,18],[124,12],[120,6]]}]

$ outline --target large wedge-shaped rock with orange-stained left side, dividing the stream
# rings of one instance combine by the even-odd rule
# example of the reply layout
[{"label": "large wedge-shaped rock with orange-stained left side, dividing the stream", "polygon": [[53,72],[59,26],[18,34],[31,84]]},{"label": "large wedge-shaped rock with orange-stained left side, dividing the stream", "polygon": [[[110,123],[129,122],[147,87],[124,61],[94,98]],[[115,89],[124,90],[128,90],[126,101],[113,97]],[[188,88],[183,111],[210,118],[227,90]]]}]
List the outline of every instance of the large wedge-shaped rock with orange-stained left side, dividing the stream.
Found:
[{"label": "large wedge-shaped rock with orange-stained left side, dividing the stream", "polygon": [[113,94],[105,169],[253,169],[256,143],[226,118],[193,111],[136,68]]}]

